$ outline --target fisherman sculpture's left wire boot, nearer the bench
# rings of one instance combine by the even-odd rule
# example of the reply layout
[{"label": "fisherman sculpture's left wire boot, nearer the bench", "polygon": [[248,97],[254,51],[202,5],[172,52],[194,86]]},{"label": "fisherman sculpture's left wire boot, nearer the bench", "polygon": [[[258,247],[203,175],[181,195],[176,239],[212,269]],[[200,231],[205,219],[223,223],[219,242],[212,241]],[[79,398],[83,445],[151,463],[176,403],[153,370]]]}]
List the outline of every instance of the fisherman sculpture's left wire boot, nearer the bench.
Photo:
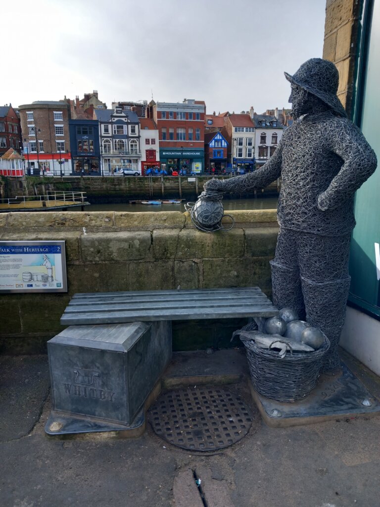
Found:
[{"label": "fisherman sculpture's left wire boot, nearer the bench", "polygon": [[272,270],[273,304],[279,310],[291,308],[300,320],[305,319],[301,279],[297,269],[288,268],[283,264],[270,261]]}]

